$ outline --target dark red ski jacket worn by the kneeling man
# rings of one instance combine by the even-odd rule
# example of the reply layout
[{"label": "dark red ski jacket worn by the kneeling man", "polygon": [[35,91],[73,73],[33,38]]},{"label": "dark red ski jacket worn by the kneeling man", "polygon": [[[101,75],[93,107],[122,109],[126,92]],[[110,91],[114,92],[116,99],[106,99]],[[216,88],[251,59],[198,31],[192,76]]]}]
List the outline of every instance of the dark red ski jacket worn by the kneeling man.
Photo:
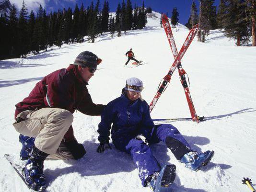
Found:
[{"label": "dark red ski jacket worn by the kneeling man", "polygon": [[[95,104],[74,65],[54,71],[36,83],[29,96],[15,105],[17,114],[25,110],[45,107],[61,108],[74,113],[75,110],[87,115],[100,115],[105,105]],[[65,141],[74,140],[73,128],[64,136]]]}]

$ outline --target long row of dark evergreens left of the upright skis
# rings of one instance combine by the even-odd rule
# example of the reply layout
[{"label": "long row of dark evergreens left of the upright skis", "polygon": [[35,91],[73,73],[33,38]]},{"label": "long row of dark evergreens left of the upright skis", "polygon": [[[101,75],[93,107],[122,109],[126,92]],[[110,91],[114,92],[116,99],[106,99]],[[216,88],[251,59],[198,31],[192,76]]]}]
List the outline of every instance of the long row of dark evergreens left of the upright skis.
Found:
[{"label": "long row of dark evergreens left of the upright skis", "polygon": [[80,8],[76,5],[74,11],[69,7],[47,13],[40,5],[36,13],[33,10],[28,13],[23,0],[19,16],[14,4],[8,16],[0,16],[0,60],[36,54],[53,45],[94,43],[95,38],[105,32],[121,36],[122,31],[145,27],[147,11],[151,8],[145,9],[144,1],[142,7],[135,5],[133,8],[131,0],[123,0],[118,3],[116,14],[111,15],[108,1],[104,1],[101,10],[97,0],[87,8],[83,4]]}]

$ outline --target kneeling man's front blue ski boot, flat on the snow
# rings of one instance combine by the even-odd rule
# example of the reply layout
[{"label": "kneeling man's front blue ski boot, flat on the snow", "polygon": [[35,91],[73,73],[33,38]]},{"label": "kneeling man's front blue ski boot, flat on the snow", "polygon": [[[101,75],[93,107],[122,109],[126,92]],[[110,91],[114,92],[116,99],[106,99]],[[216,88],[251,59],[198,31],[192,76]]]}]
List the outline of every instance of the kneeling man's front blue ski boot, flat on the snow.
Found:
[{"label": "kneeling man's front blue ski boot, flat on the snow", "polygon": [[23,168],[23,175],[27,186],[34,191],[43,192],[47,187],[43,169],[44,160],[48,155],[35,146],[32,147],[31,152],[28,154],[28,160]]}]

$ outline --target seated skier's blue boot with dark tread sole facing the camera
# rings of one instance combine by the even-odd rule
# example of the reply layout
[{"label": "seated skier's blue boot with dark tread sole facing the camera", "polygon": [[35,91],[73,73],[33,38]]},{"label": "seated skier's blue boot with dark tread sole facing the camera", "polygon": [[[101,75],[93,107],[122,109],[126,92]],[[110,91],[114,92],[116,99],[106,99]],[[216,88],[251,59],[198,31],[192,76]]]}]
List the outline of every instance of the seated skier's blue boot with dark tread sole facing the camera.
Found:
[{"label": "seated skier's blue boot with dark tread sole facing the camera", "polygon": [[175,165],[165,165],[160,172],[155,172],[152,175],[148,186],[153,192],[172,192],[171,185],[176,176]]}]

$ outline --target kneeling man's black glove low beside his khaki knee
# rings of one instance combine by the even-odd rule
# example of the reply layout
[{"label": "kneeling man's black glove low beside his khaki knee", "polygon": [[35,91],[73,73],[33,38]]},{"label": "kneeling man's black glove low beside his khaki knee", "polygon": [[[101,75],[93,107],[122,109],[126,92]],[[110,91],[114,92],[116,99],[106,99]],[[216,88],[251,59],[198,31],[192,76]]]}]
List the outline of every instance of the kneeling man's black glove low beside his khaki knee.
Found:
[{"label": "kneeling man's black glove low beside his khaki knee", "polygon": [[65,142],[65,145],[70,150],[70,153],[76,160],[82,158],[86,153],[83,145],[81,143],[78,143],[76,140]]}]

